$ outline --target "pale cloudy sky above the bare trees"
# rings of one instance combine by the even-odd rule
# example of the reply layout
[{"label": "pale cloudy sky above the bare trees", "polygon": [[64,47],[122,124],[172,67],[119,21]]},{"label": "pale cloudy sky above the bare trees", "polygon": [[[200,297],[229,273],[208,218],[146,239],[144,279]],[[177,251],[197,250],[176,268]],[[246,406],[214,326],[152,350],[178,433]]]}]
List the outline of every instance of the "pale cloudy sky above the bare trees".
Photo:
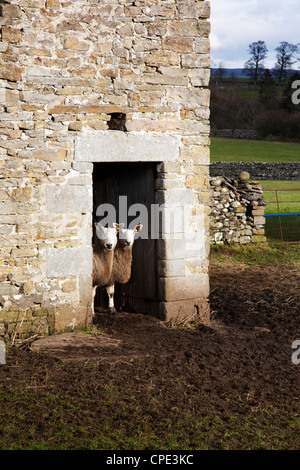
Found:
[{"label": "pale cloudy sky above the bare trees", "polygon": [[[212,67],[241,68],[248,46],[265,41],[265,66],[273,68],[281,41],[300,43],[299,0],[210,0]],[[295,64],[300,68],[300,62]]]}]

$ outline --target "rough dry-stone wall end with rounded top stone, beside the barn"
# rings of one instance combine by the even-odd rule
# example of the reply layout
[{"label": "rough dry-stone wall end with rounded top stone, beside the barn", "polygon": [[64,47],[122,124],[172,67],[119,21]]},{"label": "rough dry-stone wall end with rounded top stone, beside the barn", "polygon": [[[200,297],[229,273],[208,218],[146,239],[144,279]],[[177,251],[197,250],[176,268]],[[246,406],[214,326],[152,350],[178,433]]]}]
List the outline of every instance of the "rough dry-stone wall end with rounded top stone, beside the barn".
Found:
[{"label": "rough dry-stone wall end with rounded top stone, beside the barn", "polygon": [[247,172],[238,178],[211,177],[211,243],[261,243],[266,241],[261,185]]}]

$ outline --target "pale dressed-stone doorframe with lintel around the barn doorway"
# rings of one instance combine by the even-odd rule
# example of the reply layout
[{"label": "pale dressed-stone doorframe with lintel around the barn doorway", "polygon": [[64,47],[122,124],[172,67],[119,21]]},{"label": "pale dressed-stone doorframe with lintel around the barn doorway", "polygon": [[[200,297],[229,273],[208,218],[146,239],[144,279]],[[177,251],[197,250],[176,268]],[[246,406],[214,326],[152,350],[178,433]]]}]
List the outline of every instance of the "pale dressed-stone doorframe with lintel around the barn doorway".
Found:
[{"label": "pale dressed-stone doorframe with lintel around the barn doorway", "polygon": [[[172,179],[180,176],[180,138],[166,134],[155,133],[131,133],[122,131],[102,131],[97,135],[84,135],[75,138],[75,155],[73,169],[81,175],[86,174],[86,186],[69,185],[63,191],[71,191],[68,195],[69,203],[73,206],[82,204],[90,207],[90,222],[92,220],[92,172],[93,164],[101,162],[157,162],[158,171],[163,175],[162,180],[166,181],[170,170]],[[163,204],[164,215],[168,216],[168,211],[172,208],[182,208],[190,205],[197,212],[200,208],[197,219],[196,238],[183,239],[186,233],[194,231],[195,223],[184,227],[184,233],[162,234],[158,240],[158,296],[159,316],[164,319],[180,320],[190,318],[194,313],[205,310],[207,313],[207,296],[209,293],[208,275],[202,272],[192,271],[191,260],[195,265],[200,266],[205,258],[205,230],[204,230],[204,208],[195,203],[194,192],[186,188],[185,184],[180,184],[176,189],[170,189],[164,184],[160,184],[157,190],[157,203]],[[53,189],[53,188],[52,188]],[[77,189],[79,191],[77,192]],[[58,203],[62,206],[68,205],[64,200],[50,191],[48,205]],[[84,203],[86,201],[86,203]],[[67,207],[62,209],[62,212]],[[87,212],[86,209],[83,209]],[[179,212],[179,211],[178,211]],[[194,232],[193,232],[194,233]],[[178,236],[179,235],[179,236]],[[181,237],[180,235],[183,235]],[[67,275],[80,276],[80,303],[90,305],[92,299],[92,223],[86,228],[83,245],[79,248],[66,248],[64,256],[61,250],[49,250],[47,270],[50,277],[60,277]],[[70,252],[72,251],[72,253]],[[74,251],[74,253],[73,253]],[[75,273],[76,271],[76,273]]]}]

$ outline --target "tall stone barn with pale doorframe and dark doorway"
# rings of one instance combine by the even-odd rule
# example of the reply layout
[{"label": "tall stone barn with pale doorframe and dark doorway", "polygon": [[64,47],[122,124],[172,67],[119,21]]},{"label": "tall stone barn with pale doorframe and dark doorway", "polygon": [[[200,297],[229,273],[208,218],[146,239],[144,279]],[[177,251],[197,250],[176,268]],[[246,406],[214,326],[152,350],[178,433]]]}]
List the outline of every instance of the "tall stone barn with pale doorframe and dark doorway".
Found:
[{"label": "tall stone barn with pale doorframe and dark doorway", "polygon": [[208,316],[209,15],[198,0],[0,1],[0,335],[91,324],[105,204],[144,218],[127,311]]}]

